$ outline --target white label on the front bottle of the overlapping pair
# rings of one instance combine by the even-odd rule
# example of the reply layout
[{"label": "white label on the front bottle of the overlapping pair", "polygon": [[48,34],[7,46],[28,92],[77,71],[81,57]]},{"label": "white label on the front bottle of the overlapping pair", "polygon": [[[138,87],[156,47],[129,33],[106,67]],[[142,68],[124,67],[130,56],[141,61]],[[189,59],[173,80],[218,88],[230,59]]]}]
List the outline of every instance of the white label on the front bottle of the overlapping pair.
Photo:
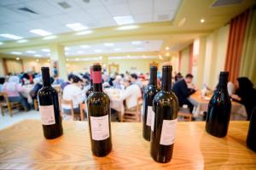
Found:
[{"label": "white label on the front bottle of the overlapping pair", "polygon": [[174,143],[177,119],[164,120],[160,137],[160,144],[171,145]]}]

